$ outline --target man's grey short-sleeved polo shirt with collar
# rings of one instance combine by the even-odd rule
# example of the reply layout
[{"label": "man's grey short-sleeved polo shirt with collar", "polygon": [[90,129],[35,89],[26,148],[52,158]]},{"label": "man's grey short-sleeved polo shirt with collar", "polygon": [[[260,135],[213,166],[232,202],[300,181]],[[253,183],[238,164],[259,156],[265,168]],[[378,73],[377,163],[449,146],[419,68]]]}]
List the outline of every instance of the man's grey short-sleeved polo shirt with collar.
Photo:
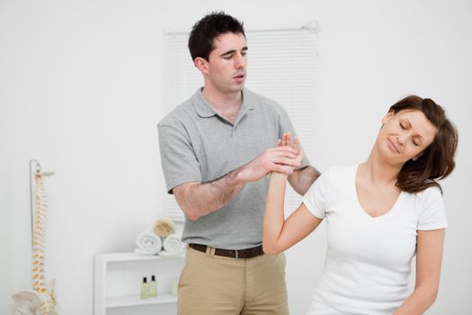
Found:
[{"label": "man's grey short-sleeved polo shirt with collar", "polygon": [[[157,126],[169,193],[179,184],[211,182],[244,166],[265,149],[273,148],[283,132],[295,136],[281,105],[248,89],[243,91],[234,124],[211,108],[200,88]],[[304,158],[302,166],[307,165]],[[183,241],[228,249],[260,245],[268,186],[268,176],[247,183],[218,211],[198,220],[186,218]]]}]

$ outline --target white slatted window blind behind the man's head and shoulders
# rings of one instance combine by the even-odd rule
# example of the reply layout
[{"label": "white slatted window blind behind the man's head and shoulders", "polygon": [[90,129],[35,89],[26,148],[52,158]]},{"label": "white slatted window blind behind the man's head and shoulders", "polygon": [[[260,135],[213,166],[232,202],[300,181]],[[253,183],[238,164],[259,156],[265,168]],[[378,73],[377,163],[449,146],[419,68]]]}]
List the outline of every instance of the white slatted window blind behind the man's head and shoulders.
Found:
[{"label": "white slatted window blind behind the man's head and shoulders", "polygon": [[[245,86],[272,98],[289,113],[305,154],[313,163],[315,148],[316,30],[246,31],[248,66]],[[165,34],[165,112],[170,112],[203,85],[187,48],[188,34]],[[165,193],[165,215],[183,221],[173,195]],[[295,210],[301,196],[288,185],[286,214]]]}]

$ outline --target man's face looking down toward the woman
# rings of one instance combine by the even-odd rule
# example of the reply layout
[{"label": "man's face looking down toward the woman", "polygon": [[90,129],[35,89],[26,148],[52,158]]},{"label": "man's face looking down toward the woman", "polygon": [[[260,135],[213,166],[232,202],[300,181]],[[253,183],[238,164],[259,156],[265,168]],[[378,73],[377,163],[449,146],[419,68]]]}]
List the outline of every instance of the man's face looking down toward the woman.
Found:
[{"label": "man's face looking down toward the woman", "polygon": [[[245,85],[247,45],[242,33],[227,32],[213,40],[215,49],[204,60],[206,87],[222,94],[240,92]],[[211,85],[211,86],[208,86]]]}]

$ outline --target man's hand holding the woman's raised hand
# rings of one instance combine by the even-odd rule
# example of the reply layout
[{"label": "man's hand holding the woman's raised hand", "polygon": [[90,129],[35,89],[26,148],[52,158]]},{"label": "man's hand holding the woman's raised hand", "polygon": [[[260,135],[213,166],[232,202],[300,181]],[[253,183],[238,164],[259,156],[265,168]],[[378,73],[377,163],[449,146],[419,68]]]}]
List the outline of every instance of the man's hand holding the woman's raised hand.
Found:
[{"label": "man's hand holding the woman's raised hand", "polygon": [[299,166],[301,166],[301,157],[298,154],[298,140],[297,148],[292,148],[289,145],[281,145],[281,139],[279,139],[276,148],[266,149],[262,155],[242,166],[238,177],[245,183],[257,182],[271,172],[290,175],[293,173],[293,168]]}]

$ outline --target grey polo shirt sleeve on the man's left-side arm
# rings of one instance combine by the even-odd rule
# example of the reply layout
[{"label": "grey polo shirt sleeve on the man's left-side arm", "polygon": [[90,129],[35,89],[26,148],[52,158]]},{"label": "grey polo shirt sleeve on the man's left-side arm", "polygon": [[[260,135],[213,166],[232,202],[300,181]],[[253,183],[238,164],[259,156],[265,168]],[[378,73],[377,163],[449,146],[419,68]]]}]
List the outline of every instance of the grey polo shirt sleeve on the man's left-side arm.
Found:
[{"label": "grey polo shirt sleeve on the man's left-side arm", "polygon": [[200,163],[184,130],[169,125],[157,125],[159,151],[167,193],[179,184],[201,182]]}]

